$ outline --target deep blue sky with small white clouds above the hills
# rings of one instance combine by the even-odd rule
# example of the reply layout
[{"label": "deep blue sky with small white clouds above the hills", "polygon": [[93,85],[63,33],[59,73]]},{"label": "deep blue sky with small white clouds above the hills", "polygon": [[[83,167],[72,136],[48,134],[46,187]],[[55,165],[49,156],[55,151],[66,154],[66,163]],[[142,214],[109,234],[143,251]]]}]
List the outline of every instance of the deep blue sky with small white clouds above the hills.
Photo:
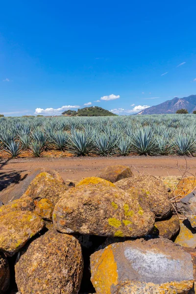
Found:
[{"label": "deep blue sky with small white clouds above the hills", "polygon": [[196,94],[195,11],[195,0],[2,1],[0,113],[88,103],[127,115]]}]

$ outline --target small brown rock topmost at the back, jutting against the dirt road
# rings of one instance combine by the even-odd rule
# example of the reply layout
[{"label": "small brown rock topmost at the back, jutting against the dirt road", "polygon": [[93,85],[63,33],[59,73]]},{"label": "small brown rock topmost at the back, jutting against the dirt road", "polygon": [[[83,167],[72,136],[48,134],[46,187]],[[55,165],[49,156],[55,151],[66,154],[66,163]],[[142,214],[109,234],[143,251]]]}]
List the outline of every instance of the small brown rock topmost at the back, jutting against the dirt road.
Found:
[{"label": "small brown rock topmost at the back, jutting against the dirt road", "polygon": [[132,176],[131,169],[127,166],[115,165],[108,166],[98,172],[97,177],[110,181],[112,183],[117,182],[121,179]]}]

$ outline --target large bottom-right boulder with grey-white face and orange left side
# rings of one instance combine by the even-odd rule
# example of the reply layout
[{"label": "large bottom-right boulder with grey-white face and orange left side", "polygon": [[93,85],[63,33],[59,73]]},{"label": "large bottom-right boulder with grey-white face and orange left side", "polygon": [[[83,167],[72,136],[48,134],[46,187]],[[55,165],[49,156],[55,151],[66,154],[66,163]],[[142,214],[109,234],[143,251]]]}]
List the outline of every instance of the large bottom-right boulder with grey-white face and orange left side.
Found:
[{"label": "large bottom-right boulder with grey-white face and orange left side", "polygon": [[[179,291],[179,283],[188,291],[193,288],[193,279],[191,255],[164,238],[115,243],[91,255],[91,281],[97,294],[145,293],[131,291],[134,286],[141,290],[138,283],[153,283],[155,290],[167,283],[173,292],[160,293],[182,294],[188,292]],[[130,284],[130,288],[120,292],[123,284]],[[152,288],[146,293],[157,292]]]}]

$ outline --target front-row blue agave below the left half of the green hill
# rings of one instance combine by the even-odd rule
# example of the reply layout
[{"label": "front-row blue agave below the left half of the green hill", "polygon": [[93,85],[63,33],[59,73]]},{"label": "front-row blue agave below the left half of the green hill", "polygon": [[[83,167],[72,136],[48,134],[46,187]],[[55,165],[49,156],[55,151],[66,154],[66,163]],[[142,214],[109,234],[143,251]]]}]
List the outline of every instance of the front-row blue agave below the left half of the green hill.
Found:
[{"label": "front-row blue agave below the left half of the green hill", "polygon": [[90,152],[92,143],[83,131],[73,131],[69,136],[69,149],[77,155],[86,155]]}]

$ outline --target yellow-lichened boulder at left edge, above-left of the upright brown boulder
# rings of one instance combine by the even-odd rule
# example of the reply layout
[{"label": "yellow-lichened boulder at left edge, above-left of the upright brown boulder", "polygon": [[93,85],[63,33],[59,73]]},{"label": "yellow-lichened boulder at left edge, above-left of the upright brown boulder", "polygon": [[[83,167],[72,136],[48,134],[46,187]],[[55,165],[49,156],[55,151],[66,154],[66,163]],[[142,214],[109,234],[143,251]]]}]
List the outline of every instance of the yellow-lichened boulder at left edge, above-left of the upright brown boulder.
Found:
[{"label": "yellow-lichened boulder at left edge, above-left of the upright brown boulder", "polygon": [[30,211],[14,211],[1,216],[0,251],[13,256],[44,226],[44,221]]}]

